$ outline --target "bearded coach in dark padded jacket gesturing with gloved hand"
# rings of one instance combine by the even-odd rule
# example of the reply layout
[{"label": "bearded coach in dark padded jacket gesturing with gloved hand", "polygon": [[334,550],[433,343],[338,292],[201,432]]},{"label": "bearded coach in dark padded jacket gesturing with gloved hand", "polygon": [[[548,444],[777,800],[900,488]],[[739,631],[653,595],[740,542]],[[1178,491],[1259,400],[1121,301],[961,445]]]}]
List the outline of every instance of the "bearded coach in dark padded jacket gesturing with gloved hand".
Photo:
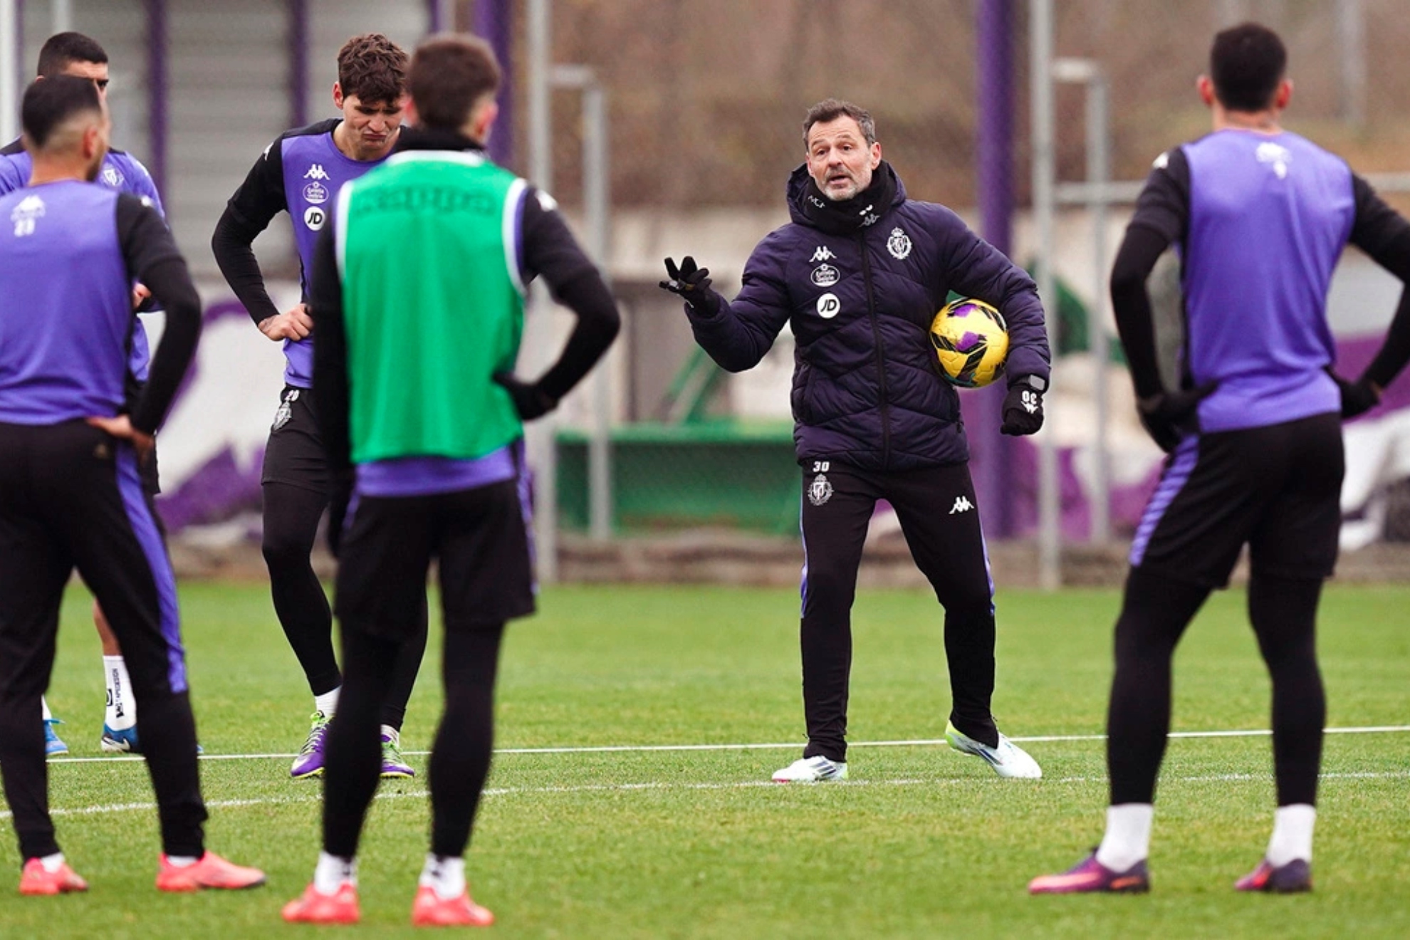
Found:
[{"label": "bearded coach in dark padded jacket gesturing with gloved hand", "polygon": [[1038,762],[1000,733],[994,693],[994,582],[974,507],[969,444],[929,327],[955,290],[1008,320],[1008,396],[1000,428],[1043,423],[1048,335],[1024,271],[949,209],[907,199],[881,159],[871,116],[826,99],[804,118],[805,162],[788,180],[792,221],[754,248],[732,302],[685,258],[661,282],[685,300],[695,341],[721,368],[764,358],[788,324],[797,341],[794,443],[802,465],[802,698],[808,744],[776,782],[847,777],[852,602],[867,523],[890,500],[916,567],[945,607],[950,746],[1000,777]]}]

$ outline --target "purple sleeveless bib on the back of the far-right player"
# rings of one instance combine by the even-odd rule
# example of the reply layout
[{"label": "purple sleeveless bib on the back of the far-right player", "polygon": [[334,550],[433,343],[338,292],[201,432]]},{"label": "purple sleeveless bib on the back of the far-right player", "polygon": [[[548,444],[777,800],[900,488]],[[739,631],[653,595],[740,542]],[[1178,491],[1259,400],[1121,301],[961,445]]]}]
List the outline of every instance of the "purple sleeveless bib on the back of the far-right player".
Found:
[{"label": "purple sleeveless bib on the back of the far-right player", "polygon": [[1351,234],[1351,169],[1289,132],[1224,130],[1183,145],[1190,165],[1186,354],[1201,431],[1341,410],[1327,287]]}]

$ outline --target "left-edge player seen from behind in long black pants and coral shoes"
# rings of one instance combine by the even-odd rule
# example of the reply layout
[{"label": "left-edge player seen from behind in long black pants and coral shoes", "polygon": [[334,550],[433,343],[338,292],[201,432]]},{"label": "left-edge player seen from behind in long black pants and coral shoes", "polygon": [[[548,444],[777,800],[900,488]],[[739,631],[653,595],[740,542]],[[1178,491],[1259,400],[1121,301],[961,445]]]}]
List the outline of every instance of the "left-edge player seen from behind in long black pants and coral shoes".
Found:
[{"label": "left-edge player seen from behind in long black pants and coral shoes", "polygon": [[[203,847],[176,583],[138,472],[196,351],[200,299],[161,216],[90,185],[110,128],[93,82],[35,82],[21,110],[31,185],[0,197],[0,772],[24,858],[20,892],[87,888],[55,840],[39,723],[75,567],[142,702],[164,848],[157,886],[264,884],[262,872]],[[134,280],[162,303],[166,328],[125,414],[128,352],[141,330]]]}]

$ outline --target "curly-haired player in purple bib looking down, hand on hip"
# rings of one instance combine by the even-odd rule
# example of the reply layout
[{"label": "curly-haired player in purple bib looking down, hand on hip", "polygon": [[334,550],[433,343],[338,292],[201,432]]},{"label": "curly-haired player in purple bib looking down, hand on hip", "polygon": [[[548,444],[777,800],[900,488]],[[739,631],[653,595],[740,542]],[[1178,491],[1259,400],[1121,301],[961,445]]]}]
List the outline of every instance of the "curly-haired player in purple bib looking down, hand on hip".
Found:
[{"label": "curly-haired player in purple bib looking down, hand on hip", "polygon": [[[330,478],[313,409],[314,323],[309,317],[313,247],[343,183],[378,166],[398,140],[406,100],[406,54],[379,34],[354,37],[338,52],[333,103],[341,117],[288,131],[265,148],[230,197],[212,249],[231,290],[259,331],[283,344],[285,388],[269,428],[261,483],[264,557],[279,624],[313,692],[313,719],[295,779],[323,774],[327,723],[337,709],[343,675],[333,653],[333,614],[309,555],[319,520],[340,481]],[[299,251],[300,302],[281,311],[265,289],[254,240],[281,211],[289,213]],[[400,755],[402,719],[426,650],[419,637],[402,648],[396,682],[382,709],[382,775],[413,777]]]}]

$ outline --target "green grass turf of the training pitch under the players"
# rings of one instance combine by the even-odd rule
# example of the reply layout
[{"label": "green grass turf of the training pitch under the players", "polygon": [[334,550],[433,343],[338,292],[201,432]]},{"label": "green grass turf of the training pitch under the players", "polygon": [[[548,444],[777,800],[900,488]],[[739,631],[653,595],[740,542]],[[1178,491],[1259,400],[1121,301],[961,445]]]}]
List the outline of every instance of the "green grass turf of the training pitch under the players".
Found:
[{"label": "green grass turf of the training pitch under the players", "polygon": [[[103,688],[87,599],[70,589],[51,703],[76,760],[51,764],[59,839],[87,895],[0,884],[3,937],[420,936],[407,923],[426,846],[424,781],[384,785],[361,857],[361,927],[290,927],[279,908],[317,853],[316,782],[292,782],[309,696],[262,583],[183,586],[206,748],[210,847],[269,872],[248,893],[159,895],[151,789],[103,758]],[[1317,891],[1231,889],[1272,819],[1269,741],[1183,737],[1166,757],[1148,896],[1029,898],[1026,881],[1097,841],[1112,590],[1001,592],[995,713],[1043,765],[1000,781],[936,744],[949,707],[939,610],[863,592],[854,616],[843,785],[781,786],[799,754],[797,595],[565,586],[506,643],[499,748],[468,874],[503,937],[1406,937],[1410,731],[1327,737]],[[427,747],[437,645],[403,744]],[[1320,648],[1334,729],[1410,724],[1410,589],[1331,588]],[[1268,681],[1244,595],[1217,595],[1176,664],[1175,730],[1268,727]],[[785,744],[788,747],[730,747]],[[644,746],[719,746],[632,750]],[[92,758],[92,760],[85,760]],[[424,767],[424,755],[412,762]],[[8,815],[0,871],[18,878]]]}]

